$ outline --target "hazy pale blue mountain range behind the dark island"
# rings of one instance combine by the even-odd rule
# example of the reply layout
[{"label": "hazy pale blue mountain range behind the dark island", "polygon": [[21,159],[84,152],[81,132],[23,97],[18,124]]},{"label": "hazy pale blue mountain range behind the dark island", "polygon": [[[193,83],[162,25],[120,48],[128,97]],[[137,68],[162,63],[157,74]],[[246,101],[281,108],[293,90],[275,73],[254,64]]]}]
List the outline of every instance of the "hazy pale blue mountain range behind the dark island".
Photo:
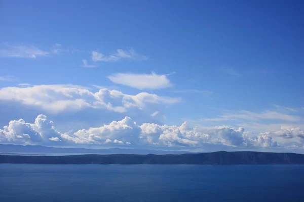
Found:
[{"label": "hazy pale blue mountain range behind the dark island", "polygon": [[108,148],[108,149],[91,149],[91,148],[61,148],[39,145],[16,145],[16,144],[0,144],[0,153],[32,153],[32,154],[49,154],[49,153],[65,153],[65,154],[191,154],[187,151],[166,151],[166,150],[148,150],[148,149],[129,149],[129,148]]}]

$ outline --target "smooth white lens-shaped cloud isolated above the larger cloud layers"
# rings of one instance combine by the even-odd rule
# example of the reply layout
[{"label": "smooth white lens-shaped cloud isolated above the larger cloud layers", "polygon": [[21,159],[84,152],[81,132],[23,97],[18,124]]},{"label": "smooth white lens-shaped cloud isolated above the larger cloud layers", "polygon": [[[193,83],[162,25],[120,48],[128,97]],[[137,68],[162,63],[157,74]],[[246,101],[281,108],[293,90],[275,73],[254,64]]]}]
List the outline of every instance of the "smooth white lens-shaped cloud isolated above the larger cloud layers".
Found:
[{"label": "smooth white lens-shaped cloud isolated above the larger cloud layers", "polygon": [[171,87],[172,84],[167,75],[151,74],[131,74],[117,73],[108,76],[113,83],[127,85],[140,90],[143,89],[161,89]]}]

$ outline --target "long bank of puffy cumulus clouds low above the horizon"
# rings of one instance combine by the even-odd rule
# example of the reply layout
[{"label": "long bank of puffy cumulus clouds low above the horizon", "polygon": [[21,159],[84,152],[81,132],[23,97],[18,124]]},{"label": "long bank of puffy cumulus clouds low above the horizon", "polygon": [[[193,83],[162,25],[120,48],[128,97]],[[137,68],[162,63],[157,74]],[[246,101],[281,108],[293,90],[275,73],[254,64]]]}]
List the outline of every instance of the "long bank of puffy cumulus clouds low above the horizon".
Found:
[{"label": "long bank of puffy cumulus clouds low above the horizon", "polygon": [[131,118],[113,121],[108,125],[81,129],[73,133],[55,130],[54,123],[45,115],[36,117],[34,123],[24,120],[10,121],[0,129],[0,141],[20,144],[119,144],[137,146],[190,146],[222,145],[230,147],[298,147],[304,143],[300,128],[282,128],[279,131],[253,134],[244,128],[229,126],[191,127],[187,122],[180,126],[154,123],[136,124]]}]

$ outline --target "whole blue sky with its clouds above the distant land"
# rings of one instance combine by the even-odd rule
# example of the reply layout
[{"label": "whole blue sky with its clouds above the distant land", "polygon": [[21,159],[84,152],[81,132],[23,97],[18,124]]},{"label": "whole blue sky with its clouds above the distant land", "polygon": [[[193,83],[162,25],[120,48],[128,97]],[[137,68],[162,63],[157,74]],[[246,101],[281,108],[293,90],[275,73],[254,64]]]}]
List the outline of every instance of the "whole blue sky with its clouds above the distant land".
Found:
[{"label": "whole blue sky with its clouds above the distant land", "polygon": [[304,153],[303,6],[0,0],[0,143]]}]

